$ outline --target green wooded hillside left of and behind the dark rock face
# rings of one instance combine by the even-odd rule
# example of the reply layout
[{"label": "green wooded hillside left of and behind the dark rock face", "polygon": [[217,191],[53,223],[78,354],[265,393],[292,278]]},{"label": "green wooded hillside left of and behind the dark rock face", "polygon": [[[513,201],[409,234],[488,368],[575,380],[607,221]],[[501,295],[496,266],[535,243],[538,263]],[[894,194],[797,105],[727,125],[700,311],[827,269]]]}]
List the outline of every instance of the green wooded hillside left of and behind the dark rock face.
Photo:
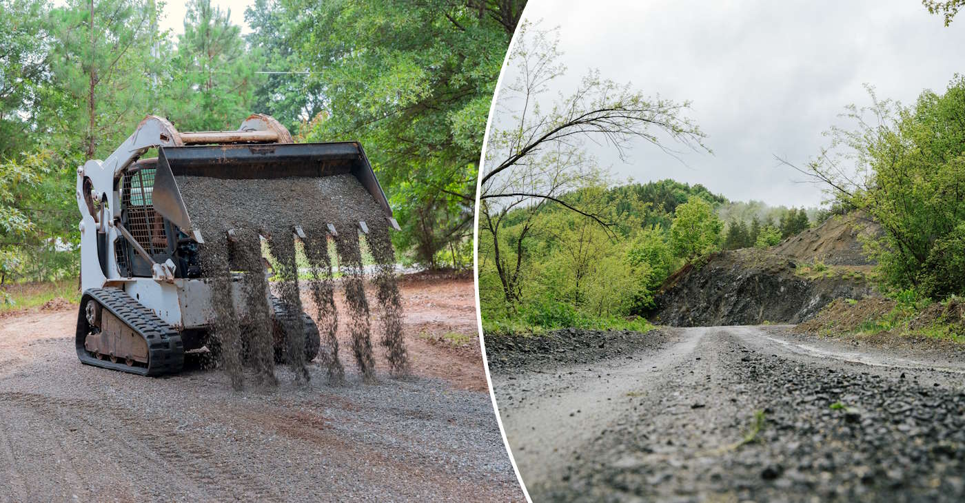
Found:
[{"label": "green wooded hillside left of and behind the dark rock face", "polygon": [[[827,218],[827,211],[731,202],[702,184],[664,180],[588,187],[565,194],[563,205],[507,213],[500,270],[491,235],[480,235],[480,295],[493,330],[622,324],[646,312],[678,267],[721,249],[766,247]],[[722,216],[727,216],[725,220]],[[821,220],[823,221],[823,220]],[[516,273],[515,290],[504,274]]]}]

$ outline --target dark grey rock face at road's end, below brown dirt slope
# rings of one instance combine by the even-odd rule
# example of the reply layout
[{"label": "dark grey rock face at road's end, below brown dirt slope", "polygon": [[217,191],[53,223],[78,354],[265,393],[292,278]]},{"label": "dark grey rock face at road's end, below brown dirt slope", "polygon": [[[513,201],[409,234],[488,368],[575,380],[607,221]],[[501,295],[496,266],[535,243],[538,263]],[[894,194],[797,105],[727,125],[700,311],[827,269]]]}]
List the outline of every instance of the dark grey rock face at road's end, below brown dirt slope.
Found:
[{"label": "dark grey rock face at road's end, below brown dirt slope", "polygon": [[685,265],[661,287],[650,320],[673,326],[798,323],[835,298],[875,295],[864,274],[849,268],[814,273],[771,250],[745,248]]}]

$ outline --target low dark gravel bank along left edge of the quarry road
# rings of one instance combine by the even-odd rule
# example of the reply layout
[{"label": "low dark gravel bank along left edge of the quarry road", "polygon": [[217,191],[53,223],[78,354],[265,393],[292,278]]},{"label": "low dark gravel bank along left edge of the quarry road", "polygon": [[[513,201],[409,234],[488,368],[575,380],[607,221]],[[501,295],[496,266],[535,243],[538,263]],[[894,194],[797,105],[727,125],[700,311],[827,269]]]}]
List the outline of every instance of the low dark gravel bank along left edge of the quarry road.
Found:
[{"label": "low dark gravel bank along left edge of the quarry road", "polygon": [[666,333],[630,330],[563,328],[541,335],[486,336],[485,351],[491,372],[553,368],[633,354],[662,344]]}]

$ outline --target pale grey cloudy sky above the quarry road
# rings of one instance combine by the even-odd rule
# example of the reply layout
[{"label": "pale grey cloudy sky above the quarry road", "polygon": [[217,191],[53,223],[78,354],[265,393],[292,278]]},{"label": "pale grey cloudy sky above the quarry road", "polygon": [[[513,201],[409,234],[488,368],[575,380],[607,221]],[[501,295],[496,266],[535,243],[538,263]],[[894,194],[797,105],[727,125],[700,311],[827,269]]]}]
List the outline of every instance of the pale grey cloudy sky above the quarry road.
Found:
[{"label": "pale grey cloudy sky above the quarry road", "polygon": [[560,91],[596,68],[647,94],[693,102],[690,116],[714,154],[684,154],[683,164],[640,142],[624,163],[588,144],[616,178],[700,182],[770,205],[821,201],[819,188],[795,183],[802,177],[774,155],[804,163],[816,154],[844,105],[869,104],[863,83],[910,104],[965,72],[965,17],[945,28],[918,0],[530,0],[524,16],[561,29],[568,71]]}]

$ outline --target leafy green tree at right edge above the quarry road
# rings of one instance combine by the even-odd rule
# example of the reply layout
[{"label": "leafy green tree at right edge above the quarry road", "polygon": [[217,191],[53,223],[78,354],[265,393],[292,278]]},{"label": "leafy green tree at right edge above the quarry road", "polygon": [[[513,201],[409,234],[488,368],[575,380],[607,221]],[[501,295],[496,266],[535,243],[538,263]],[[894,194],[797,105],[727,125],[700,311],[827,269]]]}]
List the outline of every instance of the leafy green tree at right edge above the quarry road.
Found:
[{"label": "leafy green tree at right edge above the quarry road", "polygon": [[886,290],[965,294],[965,77],[910,106],[870,96],[868,108],[847,109],[856,126],[832,129],[832,147],[804,171],[882,226],[868,248]]}]

